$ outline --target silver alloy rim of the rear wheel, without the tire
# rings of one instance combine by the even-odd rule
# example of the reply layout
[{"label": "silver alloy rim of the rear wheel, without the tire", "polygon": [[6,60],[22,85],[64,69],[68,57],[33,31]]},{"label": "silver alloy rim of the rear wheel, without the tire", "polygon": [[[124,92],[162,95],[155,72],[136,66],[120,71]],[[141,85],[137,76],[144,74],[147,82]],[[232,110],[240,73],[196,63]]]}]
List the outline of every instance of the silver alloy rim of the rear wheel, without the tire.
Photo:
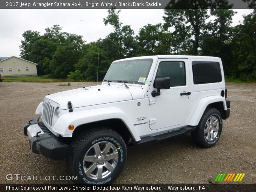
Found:
[{"label": "silver alloy rim of the rear wheel, without the tire", "polygon": [[216,116],[211,116],[206,121],[206,124],[204,127],[204,138],[206,138],[206,140],[208,141],[212,141],[218,135],[218,131],[219,131],[219,120]]}]

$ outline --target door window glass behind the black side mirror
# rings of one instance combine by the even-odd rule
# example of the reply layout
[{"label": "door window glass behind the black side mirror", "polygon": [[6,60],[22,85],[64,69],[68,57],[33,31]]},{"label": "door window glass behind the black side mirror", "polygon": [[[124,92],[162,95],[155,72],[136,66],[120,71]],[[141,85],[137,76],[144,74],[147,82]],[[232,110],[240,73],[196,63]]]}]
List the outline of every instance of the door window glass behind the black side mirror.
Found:
[{"label": "door window glass behind the black side mirror", "polygon": [[163,61],[159,63],[156,77],[170,77],[171,86],[186,85],[185,63],[180,61]]}]

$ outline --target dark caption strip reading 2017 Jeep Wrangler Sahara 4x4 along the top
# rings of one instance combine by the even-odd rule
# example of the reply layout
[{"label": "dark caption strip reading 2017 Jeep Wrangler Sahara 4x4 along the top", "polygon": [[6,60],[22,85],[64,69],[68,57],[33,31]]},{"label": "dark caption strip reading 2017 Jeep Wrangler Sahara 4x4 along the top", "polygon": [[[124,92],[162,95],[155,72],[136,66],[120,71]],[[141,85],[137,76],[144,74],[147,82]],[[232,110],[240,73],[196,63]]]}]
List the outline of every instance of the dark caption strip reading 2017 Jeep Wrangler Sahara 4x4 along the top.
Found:
[{"label": "dark caption strip reading 2017 Jeep Wrangler Sahara 4x4 along the top", "polygon": [[[196,2],[196,6],[194,2]],[[163,9],[175,8],[255,8],[255,0],[5,0],[1,9]],[[199,7],[198,7],[199,5]]]}]

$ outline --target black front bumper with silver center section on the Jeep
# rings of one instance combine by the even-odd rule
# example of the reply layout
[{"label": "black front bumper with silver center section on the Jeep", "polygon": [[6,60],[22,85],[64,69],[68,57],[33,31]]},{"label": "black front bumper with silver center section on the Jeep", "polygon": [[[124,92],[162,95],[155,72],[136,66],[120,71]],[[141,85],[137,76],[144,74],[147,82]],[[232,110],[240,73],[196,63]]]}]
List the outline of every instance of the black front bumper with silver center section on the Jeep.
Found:
[{"label": "black front bumper with silver center section on the Jeep", "polygon": [[68,145],[54,136],[38,119],[32,118],[24,125],[24,135],[29,137],[31,151],[53,160],[62,160],[66,157]]}]

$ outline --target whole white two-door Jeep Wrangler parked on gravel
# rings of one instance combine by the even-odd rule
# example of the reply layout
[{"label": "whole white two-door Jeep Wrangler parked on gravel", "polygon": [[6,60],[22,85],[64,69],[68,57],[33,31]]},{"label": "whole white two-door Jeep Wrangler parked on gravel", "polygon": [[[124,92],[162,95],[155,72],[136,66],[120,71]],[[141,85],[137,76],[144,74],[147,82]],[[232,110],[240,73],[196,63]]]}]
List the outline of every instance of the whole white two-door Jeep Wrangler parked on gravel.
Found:
[{"label": "whole white two-door Jeep Wrangler parked on gravel", "polygon": [[79,183],[112,182],[126,146],[191,132],[216,144],[230,114],[220,58],[160,55],[114,61],[101,85],[47,95],[24,126],[32,152],[66,157]]}]

